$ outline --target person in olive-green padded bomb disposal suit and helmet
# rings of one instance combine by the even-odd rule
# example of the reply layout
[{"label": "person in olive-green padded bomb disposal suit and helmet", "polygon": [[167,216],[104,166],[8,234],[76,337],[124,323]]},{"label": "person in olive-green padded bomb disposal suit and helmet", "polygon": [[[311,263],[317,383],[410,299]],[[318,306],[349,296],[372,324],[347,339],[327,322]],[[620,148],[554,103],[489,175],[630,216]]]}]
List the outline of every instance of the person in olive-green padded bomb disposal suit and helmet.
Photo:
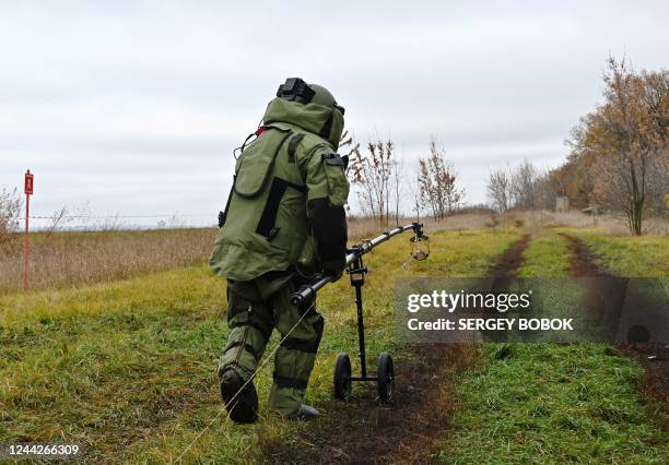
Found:
[{"label": "person in olive-green padded bomb disposal suit and helmet", "polygon": [[210,259],[212,270],[227,278],[231,332],[219,378],[223,403],[236,422],[257,420],[258,396],[253,380],[247,381],[274,327],[282,343],[270,410],[300,419],[319,414],[303,400],[324,319],[314,306],[293,306],[290,296],[315,276],[343,273],[348,158],[336,153],[343,116],[326,88],[287,79],[269,103],[256,139],[247,144],[250,134],[239,147]]}]

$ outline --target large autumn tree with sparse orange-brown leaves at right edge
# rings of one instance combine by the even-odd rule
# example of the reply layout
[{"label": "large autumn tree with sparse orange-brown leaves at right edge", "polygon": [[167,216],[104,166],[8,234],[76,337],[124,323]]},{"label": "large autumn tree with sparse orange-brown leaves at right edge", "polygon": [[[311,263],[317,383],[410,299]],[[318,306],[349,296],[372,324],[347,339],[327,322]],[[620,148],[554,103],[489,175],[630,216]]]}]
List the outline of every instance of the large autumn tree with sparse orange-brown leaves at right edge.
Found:
[{"label": "large autumn tree with sparse orange-brown leaves at right edge", "polygon": [[641,235],[648,204],[661,204],[669,186],[669,72],[636,73],[610,57],[603,81],[605,103],[572,131],[571,169],[587,164],[592,199]]}]

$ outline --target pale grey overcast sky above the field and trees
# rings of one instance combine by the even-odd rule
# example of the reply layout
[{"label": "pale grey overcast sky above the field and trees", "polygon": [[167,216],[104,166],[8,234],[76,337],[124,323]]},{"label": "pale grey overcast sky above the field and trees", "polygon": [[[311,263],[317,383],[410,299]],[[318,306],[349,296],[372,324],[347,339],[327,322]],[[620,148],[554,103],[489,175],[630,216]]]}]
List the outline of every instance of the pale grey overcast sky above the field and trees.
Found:
[{"label": "pale grey overcast sky above the field and trees", "polygon": [[491,169],[564,159],[609,52],[669,58],[666,1],[390,3],[0,1],[0,189],[31,168],[34,214],[213,224],[232,150],[302,76],[408,172],[434,135],[478,203]]}]

